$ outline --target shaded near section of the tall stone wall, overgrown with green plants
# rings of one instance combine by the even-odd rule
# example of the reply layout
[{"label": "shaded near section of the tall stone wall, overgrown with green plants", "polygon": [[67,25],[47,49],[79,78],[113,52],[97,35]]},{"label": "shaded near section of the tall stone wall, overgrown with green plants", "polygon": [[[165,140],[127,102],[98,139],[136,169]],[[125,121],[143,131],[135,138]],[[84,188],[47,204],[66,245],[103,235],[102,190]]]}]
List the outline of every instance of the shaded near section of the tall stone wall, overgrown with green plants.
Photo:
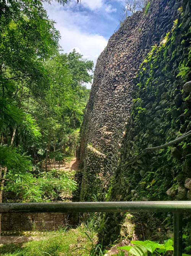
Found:
[{"label": "shaded near section of the tall stone wall, overgrown with green plants", "polygon": [[[184,1],[170,33],[159,46],[152,47],[134,79],[121,168],[112,177],[110,200],[191,200],[191,137],[141,155],[143,149],[165,144],[191,130],[190,38],[191,2]],[[141,157],[136,158],[139,155]],[[172,215],[141,213],[134,216],[136,223],[141,223],[136,225],[136,233],[146,239],[166,239],[172,233]],[[120,214],[105,215],[105,227],[112,227],[104,229],[106,244],[116,238],[113,234],[119,234],[118,224],[123,218]],[[190,253],[190,215],[185,216],[184,228],[185,245]]]}]

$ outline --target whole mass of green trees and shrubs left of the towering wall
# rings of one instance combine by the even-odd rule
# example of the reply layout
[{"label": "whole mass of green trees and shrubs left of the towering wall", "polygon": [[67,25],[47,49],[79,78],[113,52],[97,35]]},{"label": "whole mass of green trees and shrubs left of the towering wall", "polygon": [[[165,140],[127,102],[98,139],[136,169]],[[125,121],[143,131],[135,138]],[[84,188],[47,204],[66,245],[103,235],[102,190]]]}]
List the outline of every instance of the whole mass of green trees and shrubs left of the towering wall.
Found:
[{"label": "whole mass of green trees and shrubs left of the towering wall", "polygon": [[[58,200],[59,193],[66,200],[76,188],[65,173],[39,174],[47,162],[60,165],[78,150],[89,97],[84,83],[92,80],[93,62],[75,50],[60,54],[59,39],[43,1],[1,1],[0,186],[5,184],[16,200]],[[38,173],[32,172],[32,162]]]}]

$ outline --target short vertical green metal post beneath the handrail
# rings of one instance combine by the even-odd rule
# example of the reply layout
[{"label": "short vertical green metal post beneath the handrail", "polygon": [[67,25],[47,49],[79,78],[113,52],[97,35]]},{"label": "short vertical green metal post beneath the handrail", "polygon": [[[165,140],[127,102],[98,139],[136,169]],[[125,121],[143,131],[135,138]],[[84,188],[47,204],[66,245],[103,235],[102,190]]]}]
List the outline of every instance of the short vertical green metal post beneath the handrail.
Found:
[{"label": "short vertical green metal post beneath the handrail", "polygon": [[174,228],[174,256],[182,255],[182,214],[174,213],[173,228]]}]

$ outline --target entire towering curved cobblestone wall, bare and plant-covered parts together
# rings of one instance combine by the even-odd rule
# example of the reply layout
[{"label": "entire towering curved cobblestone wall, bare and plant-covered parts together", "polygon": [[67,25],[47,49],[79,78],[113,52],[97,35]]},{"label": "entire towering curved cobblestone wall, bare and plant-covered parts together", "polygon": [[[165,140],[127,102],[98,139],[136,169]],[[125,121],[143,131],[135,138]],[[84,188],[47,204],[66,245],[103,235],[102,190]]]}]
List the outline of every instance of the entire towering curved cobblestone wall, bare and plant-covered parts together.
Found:
[{"label": "entire towering curved cobblestone wall, bare and plant-covered parts together", "polygon": [[[92,193],[110,201],[190,200],[191,139],[127,165],[144,148],[191,130],[190,38],[189,0],[153,0],[147,13],[128,18],[110,38],[97,61],[81,128],[81,200],[91,201]],[[165,239],[172,231],[170,215],[134,217],[140,237]],[[100,241],[113,243],[123,219],[105,214]],[[184,223],[189,245],[189,215]]]}]

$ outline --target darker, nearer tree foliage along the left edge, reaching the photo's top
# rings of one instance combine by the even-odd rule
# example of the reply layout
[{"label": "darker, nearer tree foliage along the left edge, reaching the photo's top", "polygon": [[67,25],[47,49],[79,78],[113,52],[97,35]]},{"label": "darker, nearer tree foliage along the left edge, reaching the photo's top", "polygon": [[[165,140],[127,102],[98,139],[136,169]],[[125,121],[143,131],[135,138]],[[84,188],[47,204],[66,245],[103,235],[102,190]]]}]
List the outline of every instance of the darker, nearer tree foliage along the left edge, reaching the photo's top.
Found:
[{"label": "darker, nearer tree foliage along the left edge, reaching the photo's top", "polygon": [[32,144],[40,132],[28,107],[23,107],[23,99],[29,95],[39,98],[46,91],[48,78],[43,61],[58,52],[59,33],[53,21],[48,20],[41,1],[1,1],[0,7],[3,189],[7,171],[18,181],[24,180],[24,172],[31,170],[29,157],[24,153],[28,151],[26,137]]}]

